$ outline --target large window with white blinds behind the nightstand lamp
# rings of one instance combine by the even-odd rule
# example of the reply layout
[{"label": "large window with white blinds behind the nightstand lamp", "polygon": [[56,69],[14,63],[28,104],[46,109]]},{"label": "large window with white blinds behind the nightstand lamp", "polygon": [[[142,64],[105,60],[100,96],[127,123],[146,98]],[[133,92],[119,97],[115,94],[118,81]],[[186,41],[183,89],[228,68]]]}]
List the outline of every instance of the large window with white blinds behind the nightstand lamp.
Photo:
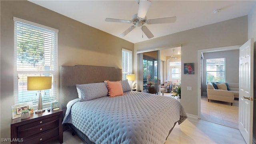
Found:
[{"label": "large window with white blinds behind the nightstand lamp", "polygon": [[38,104],[37,91],[27,90],[27,76],[52,76],[43,104],[57,100],[58,30],[14,17],[14,104]]}]

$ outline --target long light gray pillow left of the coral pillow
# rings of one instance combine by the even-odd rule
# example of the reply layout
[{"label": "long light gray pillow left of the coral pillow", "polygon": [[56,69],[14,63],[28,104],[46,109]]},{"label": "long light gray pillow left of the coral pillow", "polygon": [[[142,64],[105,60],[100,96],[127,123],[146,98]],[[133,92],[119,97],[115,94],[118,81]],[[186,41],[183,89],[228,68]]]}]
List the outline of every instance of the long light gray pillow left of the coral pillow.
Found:
[{"label": "long light gray pillow left of the coral pillow", "polygon": [[103,96],[108,96],[108,88],[106,86],[106,83],[104,82],[91,84],[76,84],[76,87],[78,89],[78,96],[81,95],[80,101],[87,101]]}]

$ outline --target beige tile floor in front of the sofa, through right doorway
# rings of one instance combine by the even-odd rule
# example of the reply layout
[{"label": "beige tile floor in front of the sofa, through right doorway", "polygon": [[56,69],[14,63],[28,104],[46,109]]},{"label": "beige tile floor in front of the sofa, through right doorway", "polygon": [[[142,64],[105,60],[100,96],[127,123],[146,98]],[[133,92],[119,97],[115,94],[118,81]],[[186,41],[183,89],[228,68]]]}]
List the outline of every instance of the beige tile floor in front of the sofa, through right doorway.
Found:
[{"label": "beige tile floor in front of the sofa, through right doorway", "polygon": [[207,96],[202,96],[201,119],[238,129],[238,104],[238,99],[235,99],[231,106],[230,102],[208,102]]}]

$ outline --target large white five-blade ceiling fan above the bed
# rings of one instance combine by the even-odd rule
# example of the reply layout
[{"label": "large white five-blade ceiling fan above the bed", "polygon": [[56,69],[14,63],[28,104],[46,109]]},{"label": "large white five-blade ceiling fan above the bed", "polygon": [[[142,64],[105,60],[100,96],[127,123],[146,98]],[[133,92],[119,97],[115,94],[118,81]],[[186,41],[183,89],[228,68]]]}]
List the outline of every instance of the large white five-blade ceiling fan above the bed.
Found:
[{"label": "large white five-blade ceiling fan above the bed", "polygon": [[[141,26],[142,32],[148,37],[153,38],[154,35],[150,30],[144,26],[144,24],[164,24],[164,23],[172,23],[176,21],[176,16],[170,16],[165,18],[154,18],[147,20],[146,14],[148,12],[148,8],[151,4],[149,0],[138,0],[139,8],[138,8],[138,14],[134,14],[132,16],[132,20],[120,20],[115,18],[106,18],[106,22],[124,22],[124,23],[132,23],[133,26],[130,26],[127,30],[125,30],[120,36],[126,36],[129,32],[131,32],[136,26]],[[143,35],[142,35],[143,38]]]}]

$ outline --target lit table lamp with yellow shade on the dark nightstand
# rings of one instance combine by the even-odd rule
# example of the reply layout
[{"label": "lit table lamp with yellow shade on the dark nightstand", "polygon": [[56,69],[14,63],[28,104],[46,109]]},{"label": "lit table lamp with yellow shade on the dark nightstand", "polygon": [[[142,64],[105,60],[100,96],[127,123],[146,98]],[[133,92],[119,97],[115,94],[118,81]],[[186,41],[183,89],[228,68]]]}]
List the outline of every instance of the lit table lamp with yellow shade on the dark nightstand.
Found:
[{"label": "lit table lamp with yellow shade on the dark nightstand", "polygon": [[28,76],[28,87],[27,90],[38,90],[39,99],[38,107],[35,113],[44,112],[42,103],[42,90],[47,90],[52,88],[52,77],[51,76]]}]

